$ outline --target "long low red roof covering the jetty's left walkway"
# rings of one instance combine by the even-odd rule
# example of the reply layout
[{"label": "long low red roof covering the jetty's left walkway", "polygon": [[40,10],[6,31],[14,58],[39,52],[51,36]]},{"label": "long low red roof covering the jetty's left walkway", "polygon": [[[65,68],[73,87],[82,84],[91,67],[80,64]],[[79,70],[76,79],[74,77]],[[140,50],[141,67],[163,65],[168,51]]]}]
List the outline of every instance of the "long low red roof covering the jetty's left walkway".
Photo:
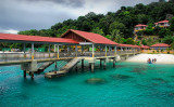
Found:
[{"label": "long low red roof covering the jetty's left walkway", "polygon": [[0,40],[23,41],[23,42],[29,41],[29,42],[78,43],[72,39],[39,37],[39,36],[25,36],[25,35],[11,35],[11,34],[0,34]]}]

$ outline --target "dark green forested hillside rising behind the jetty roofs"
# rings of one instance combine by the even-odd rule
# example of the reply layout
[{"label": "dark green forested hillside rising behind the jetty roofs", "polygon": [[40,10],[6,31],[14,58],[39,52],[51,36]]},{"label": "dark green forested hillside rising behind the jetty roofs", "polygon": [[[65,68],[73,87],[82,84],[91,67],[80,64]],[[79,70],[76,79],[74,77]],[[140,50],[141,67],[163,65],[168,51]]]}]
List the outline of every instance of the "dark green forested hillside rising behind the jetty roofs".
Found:
[{"label": "dark green forested hillside rising behind the jetty roofs", "polygon": [[67,19],[51,26],[50,29],[20,31],[20,35],[60,37],[67,29],[77,29],[100,34],[116,42],[121,38],[133,37],[134,26],[137,24],[154,24],[166,19],[167,14],[174,14],[174,1],[152,2],[150,4],[136,4],[122,6],[116,12],[103,14],[88,13],[77,19]]}]

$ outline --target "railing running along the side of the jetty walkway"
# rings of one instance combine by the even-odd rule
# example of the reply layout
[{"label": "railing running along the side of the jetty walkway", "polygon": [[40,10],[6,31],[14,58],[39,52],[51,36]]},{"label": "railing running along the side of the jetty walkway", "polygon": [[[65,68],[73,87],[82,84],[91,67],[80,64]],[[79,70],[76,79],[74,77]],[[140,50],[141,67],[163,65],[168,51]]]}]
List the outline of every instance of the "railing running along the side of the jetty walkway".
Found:
[{"label": "railing running along the side of the jetty walkway", "polygon": [[[138,51],[117,51],[117,54],[134,54]],[[114,51],[108,51],[107,56],[114,56]],[[95,52],[95,57],[105,56],[105,52]],[[58,58],[57,52],[35,52],[34,54],[35,59],[45,59],[45,58]],[[84,51],[84,52],[60,52],[59,57],[92,57],[92,52]],[[8,61],[25,61],[32,59],[32,53],[26,52],[7,52],[0,53],[0,62],[8,62]]]}]

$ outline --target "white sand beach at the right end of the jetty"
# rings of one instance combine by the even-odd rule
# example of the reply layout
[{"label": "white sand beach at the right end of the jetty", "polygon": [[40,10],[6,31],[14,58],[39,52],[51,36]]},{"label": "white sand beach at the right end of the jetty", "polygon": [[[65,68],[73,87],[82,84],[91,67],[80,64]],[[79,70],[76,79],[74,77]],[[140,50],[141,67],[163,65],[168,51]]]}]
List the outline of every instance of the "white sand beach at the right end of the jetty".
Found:
[{"label": "white sand beach at the right end of the jetty", "polygon": [[157,58],[157,64],[174,64],[172,54],[138,54],[126,59],[126,62],[147,63],[148,58]]}]

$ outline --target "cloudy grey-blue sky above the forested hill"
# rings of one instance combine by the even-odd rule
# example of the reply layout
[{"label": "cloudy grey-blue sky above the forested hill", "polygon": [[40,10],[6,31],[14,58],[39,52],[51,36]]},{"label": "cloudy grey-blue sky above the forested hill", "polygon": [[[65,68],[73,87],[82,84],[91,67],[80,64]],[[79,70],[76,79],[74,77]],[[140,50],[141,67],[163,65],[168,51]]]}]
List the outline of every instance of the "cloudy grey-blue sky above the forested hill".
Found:
[{"label": "cloudy grey-blue sky above the forested hill", "polygon": [[121,6],[148,4],[159,0],[0,0],[0,32],[17,34],[48,29],[65,19],[76,19],[89,12],[105,14]]}]

